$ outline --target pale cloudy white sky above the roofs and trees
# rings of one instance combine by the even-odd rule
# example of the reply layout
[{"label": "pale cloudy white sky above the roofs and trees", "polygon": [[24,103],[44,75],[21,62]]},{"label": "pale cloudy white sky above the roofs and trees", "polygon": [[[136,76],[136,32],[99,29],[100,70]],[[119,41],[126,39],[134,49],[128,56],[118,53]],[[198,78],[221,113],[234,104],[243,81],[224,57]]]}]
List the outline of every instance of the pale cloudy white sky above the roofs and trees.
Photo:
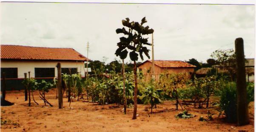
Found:
[{"label": "pale cloudy white sky above the roofs and trees", "polygon": [[205,62],[214,50],[234,48],[238,37],[246,58],[254,58],[254,5],[1,3],[1,44],[71,47],[86,55],[89,41],[89,58],[105,56],[108,63],[117,58],[121,20],[144,16],[154,29],[157,60]]}]

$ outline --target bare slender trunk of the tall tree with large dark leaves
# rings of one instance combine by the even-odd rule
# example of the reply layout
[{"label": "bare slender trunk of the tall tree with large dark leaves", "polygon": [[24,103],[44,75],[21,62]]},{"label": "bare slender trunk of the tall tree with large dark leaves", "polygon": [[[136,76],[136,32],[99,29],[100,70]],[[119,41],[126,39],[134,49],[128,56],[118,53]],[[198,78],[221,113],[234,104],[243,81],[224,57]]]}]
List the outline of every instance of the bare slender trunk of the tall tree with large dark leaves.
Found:
[{"label": "bare slender trunk of the tall tree with large dark leaves", "polygon": [[132,119],[136,119],[137,117],[137,91],[138,91],[138,80],[137,80],[137,67],[136,67],[136,61],[134,60],[134,82],[135,82],[135,88],[134,88],[134,114]]}]

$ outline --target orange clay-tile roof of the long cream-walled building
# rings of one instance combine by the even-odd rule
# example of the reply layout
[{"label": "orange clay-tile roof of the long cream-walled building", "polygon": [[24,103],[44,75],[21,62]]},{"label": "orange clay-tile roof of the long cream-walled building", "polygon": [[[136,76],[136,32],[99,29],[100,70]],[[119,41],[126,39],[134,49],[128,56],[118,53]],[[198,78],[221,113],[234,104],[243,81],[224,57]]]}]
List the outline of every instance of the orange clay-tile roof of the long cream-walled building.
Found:
[{"label": "orange clay-tile roof of the long cream-walled building", "polygon": [[1,59],[86,61],[88,58],[72,48],[1,45]]}]

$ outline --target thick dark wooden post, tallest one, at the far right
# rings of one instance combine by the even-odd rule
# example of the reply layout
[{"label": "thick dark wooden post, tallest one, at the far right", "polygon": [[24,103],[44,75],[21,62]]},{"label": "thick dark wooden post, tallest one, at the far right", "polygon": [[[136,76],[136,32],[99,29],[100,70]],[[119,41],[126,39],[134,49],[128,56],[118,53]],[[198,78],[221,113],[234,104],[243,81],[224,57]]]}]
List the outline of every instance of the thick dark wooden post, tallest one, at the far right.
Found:
[{"label": "thick dark wooden post, tallest one, at the far right", "polygon": [[245,79],[245,53],[243,38],[236,38],[236,88],[237,88],[237,124],[249,124],[248,102]]}]

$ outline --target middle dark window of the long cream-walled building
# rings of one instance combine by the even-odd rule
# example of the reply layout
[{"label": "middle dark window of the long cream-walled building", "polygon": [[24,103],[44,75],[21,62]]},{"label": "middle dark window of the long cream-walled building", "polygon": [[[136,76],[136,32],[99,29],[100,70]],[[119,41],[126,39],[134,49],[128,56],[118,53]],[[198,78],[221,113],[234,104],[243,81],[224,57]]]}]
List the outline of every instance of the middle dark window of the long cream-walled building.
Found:
[{"label": "middle dark window of the long cream-walled building", "polygon": [[35,77],[54,77],[55,68],[35,68]]}]

